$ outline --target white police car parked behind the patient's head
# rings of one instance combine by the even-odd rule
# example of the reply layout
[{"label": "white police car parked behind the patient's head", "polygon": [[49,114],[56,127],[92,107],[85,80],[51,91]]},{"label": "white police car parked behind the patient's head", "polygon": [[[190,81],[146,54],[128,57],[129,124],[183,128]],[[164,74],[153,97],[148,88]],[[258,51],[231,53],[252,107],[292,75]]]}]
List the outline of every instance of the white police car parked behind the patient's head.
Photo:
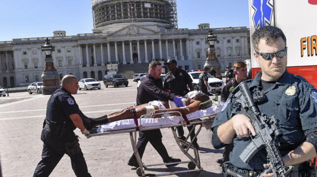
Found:
[{"label": "white police car parked behind the patient's head", "polygon": [[[198,84],[199,84],[199,75],[203,73],[203,70],[189,70],[187,71],[189,76],[193,80],[193,86],[195,90],[198,90]],[[221,89],[224,87],[223,81],[220,79],[217,79],[210,74],[208,74],[208,87],[210,88],[209,92],[221,92]]]}]

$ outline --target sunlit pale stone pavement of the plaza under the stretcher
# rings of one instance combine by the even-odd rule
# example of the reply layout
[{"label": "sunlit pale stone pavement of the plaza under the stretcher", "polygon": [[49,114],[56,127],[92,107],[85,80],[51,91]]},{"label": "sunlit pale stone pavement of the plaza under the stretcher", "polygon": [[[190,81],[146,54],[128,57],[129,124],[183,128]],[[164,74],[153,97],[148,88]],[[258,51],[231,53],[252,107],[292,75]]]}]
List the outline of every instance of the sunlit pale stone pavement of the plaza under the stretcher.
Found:
[{"label": "sunlit pale stone pavement of the plaza under the stretcher", "polygon": [[[79,90],[74,95],[80,109],[89,117],[98,117],[126,108],[135,103],[136,83],[129,80],[129,87],[101,90]],[[12,93],[0,98],[0,160],[3,177],[30,177],[41,159],[43,142],[40,140],[46,114],[47,95],[27,92]],[[187,129],[184,129],[188,133]],[[97,136],[87,139],[77,129],[80,145],[88,170],[93,177],[138,177],[135,168],[127,165],[133,151],[128,133]],[[187,161],[179,150],[170,129],[161,129],[163,143],[170,156]],[[211,131],[202,129],[198,135],[200,159],[205,177],[220,177],[221,168],[215,162],[222,157],[222,150],[211,145]],[[143,156],[146,165],[162,163],[159,154],[149,143]],[[151,167],[147,174],[161,174],[187,170],[187,164],[175,167]],[[70,159],[65,155],[53,170],[51,177],[74,177]],[[178,174],[193,177],[194,173]]]}]

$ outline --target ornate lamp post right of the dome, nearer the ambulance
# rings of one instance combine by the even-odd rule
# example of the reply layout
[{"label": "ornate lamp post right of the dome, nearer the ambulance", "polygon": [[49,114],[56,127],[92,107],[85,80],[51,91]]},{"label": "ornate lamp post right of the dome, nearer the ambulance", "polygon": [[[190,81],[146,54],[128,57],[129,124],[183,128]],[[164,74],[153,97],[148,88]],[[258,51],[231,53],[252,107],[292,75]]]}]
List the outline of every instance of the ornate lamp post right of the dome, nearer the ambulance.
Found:
[{"label": "ornate lamp post right of the dome, nearer the ambulance", "polygon": [[208,67],[211,69],[211,67],[217,72],[217,74],[220,74],[220,63],[216,57],[215,48],[214,48],[214,42],[217,41],[217,36],[214,36],[212,34],[212,29],[209,30],[209,34],[206,37],[206,41],[209,43],[208,48],[208,57],[206,59],[206,63],[204,67]]}]

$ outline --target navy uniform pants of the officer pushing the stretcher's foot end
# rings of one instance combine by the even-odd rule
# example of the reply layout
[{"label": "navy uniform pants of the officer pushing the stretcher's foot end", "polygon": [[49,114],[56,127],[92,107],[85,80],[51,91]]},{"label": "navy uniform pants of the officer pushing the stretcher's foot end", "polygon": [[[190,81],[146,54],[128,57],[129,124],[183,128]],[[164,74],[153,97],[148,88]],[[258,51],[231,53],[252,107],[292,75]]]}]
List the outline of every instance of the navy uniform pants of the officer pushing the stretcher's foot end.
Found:
[{"label": "navy uniform pants of the officer pushing the stretcher's foot end", "polygon": [[[44,142],[42,151],[42,160],[37,165],[33,177],[48,177],[58,164],[65,150],[66,142],[73,142],[77,139],[72,131],[65,133],[63,138],[54,135],[49,129],[42,130],[41,139]],[[78,144],[79,145],[79,144]],[[81,150],[75,154],[67,154],[71,160],[71,167],[77,177],[91,177],[88,173],[87,164]]]}]

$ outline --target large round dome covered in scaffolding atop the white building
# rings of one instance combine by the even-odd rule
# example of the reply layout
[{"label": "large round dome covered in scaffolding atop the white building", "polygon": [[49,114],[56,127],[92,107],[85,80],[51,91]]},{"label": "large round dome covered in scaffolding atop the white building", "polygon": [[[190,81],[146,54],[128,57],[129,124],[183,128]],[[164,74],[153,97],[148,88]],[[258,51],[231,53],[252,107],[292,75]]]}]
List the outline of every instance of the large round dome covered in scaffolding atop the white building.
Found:
[{"label": "large round dome covered in scaffolding atop the white building", "polygon": [[92,0],[94,32],[115,31],[135,23],[177,28],[175,0]]}]

